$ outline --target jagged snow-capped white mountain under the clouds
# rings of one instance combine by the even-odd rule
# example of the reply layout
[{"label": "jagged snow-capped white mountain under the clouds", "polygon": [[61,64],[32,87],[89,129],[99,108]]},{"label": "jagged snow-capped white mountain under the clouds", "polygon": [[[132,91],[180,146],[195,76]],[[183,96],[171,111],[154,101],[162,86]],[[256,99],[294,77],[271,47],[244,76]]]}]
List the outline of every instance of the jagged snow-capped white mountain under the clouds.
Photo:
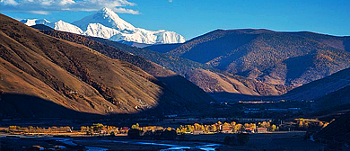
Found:
[{"label": "jagged snow-capped white mountain under the clouds", "polygon": [[148,31],[136,28],[121,19],[109,8],[103,8],[97,13],[84,17],[82,20],[68,23],[63,21],[48,22],[47,20],[22,20],[31,26],[45,24],[57,31],[68,31],[87,36],[100,37],[115,41],[133,41],[137,43],[183,43],[185,38],[174,31]]}]

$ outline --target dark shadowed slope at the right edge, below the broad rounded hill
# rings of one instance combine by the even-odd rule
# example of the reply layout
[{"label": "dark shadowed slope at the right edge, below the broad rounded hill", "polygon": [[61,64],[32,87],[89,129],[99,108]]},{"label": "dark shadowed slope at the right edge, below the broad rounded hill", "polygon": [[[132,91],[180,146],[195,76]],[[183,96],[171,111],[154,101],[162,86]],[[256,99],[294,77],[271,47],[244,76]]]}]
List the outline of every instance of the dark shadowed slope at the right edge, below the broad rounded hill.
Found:
[{"label": "dark shadowed slope at the right edge, below the broad rounded hill", "polygon": [[[350,68],[297,87],[283,97],[288,100],[316,100],[348,85],[350,85]],[[334,96],[334,99],[336,98],[337,96]]]}]

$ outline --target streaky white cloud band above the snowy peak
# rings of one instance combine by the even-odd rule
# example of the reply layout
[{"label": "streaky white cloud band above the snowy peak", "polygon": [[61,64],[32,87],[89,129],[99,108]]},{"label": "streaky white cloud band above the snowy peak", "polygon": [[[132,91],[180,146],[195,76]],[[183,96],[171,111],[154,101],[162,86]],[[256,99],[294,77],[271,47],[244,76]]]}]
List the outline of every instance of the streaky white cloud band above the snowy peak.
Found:
[{"label": "streaky white cloud band above the snowy peak", "polygon": [[117,13],[139,14],[125,8],[135,6],[127,0],[0,0],[2,12],[49,14],[60,11],[97,11],[108,7]]}]

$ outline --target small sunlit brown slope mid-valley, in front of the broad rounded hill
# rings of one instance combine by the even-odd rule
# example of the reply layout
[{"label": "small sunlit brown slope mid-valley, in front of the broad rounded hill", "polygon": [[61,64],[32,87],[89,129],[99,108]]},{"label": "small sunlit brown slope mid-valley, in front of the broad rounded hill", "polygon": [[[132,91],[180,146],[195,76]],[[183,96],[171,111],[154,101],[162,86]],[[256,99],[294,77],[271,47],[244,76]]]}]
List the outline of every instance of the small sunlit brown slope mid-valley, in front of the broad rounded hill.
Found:
[{"label": "small sunlit brown slope mid-valley, in front of the broad rounded hill", "polygon": [[[288,90],[284,85],[265,84],[247,77],[201,68],[188,71],[186,78],[192,83],[197,84],[204,91],[212,93],[215,98],[219,97],[216,93],[223,92],[259,96],[280,95]],[[230,100],[241,100],[237,96],[230,98]]]}]

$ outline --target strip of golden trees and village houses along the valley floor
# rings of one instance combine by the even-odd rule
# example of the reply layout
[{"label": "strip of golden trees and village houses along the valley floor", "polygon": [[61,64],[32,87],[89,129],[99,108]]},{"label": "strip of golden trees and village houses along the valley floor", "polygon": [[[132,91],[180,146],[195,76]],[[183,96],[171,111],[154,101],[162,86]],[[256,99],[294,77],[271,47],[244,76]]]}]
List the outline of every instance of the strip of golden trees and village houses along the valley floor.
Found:
[{"label": "strip of golden trees and village houses along the valley floor", "polygon": [[19,127],[9,126],[3,128],[3,131],[10,134],[22,134],[22,135],[35,135],[35,136],[55,136],[55,135],[67,135],[67,136],[117,136],[127,135],[130,129],[138,129],[142,131],[140,135],[146,132],[155,131],[175,131],[177,135],[202,135],[202,134],[216,134],[216,133],[269,133],[279,130],[306,130],[318,126],[320,129],[328,125],[319,120],[303,120],[296,119],[294,122],[285,122],[284,124],[273,123],[272,120],[258,121],[245,119],[245,123],[222,122],[217,121],[213,124],[199,124],[194,123],[192,125],[179,125],[178,128],[160,127],[160,126],[140,126],[138,123],[131,127],[115,127],[107,126],[101,123],[95,123],[91,126],[81,126],[80,129],[74,127]]}]

